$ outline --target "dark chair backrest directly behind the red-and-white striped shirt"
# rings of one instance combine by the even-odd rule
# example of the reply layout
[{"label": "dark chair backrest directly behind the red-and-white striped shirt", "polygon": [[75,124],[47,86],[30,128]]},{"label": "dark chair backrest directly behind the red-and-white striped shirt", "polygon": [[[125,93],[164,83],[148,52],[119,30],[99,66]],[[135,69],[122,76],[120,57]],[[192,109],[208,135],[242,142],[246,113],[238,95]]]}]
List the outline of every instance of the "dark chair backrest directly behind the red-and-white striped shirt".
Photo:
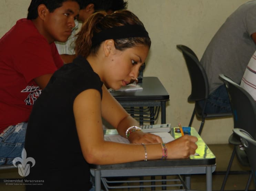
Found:
[{"label": "dark chair backrest directly behind the red-and-white striped shirt", "polygon": [[233,112],[234,128],[247,131],[256,138],[256,103],[253,97],[228,76],[219,74],[227,89]]}]

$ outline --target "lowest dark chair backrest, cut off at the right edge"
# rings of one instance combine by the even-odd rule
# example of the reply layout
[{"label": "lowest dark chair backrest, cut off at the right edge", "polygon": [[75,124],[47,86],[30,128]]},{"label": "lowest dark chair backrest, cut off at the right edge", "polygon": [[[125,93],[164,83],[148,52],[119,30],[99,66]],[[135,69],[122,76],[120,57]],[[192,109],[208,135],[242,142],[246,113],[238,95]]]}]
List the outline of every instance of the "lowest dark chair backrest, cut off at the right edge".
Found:
[{"label": "lowest dark chair backrest, cut off at the right edge", "polygon": [[254,184],[256,186],[256,141],[247,131],[239,128],[233,129],[233,132],[242,139],[249,165],[252,170]]}]

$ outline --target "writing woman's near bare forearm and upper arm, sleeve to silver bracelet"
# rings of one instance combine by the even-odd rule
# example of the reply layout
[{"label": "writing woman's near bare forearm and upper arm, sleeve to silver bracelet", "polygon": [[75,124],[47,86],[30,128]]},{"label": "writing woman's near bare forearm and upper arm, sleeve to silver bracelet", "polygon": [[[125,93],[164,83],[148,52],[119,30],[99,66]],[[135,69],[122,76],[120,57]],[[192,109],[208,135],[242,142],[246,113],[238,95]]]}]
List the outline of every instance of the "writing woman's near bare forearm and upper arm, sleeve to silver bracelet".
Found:
[{"label": "writing woman's near bare forearm and upper arm, sleeve to silver bracelet", "polygon": [[111,164],[143,159],[142,145],[104,141],[101,97],[97,90],[87,89],[80,93],[74,100],[73,111],[83,156],[88,163]]}]

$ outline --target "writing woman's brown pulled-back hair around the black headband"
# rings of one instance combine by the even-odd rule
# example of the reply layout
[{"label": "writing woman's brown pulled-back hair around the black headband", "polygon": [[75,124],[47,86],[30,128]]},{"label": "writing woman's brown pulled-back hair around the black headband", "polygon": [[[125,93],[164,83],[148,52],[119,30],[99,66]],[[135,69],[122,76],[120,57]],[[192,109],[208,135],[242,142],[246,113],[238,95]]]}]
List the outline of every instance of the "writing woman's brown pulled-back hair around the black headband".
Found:
[{"label": "writing woman's brown pulled-back hair around the black headband", "polygon": [[[144,27],[139,18],[127,10],[116,11],[110,15],[106,15],[106,12],[94,13],[82,25],[81,30],[76,35],[76,55],[82,55],[84,58],[86,58],[90,53],[95,55],[98,52],[101,43],[92,45],[93,35],[108,28],[122,25],[141,25]],[[151,46],[151,40],[149,37],[114,39],[114,43],[117,50],[124,50],[140,44],[148,46],[149,48]]]}]

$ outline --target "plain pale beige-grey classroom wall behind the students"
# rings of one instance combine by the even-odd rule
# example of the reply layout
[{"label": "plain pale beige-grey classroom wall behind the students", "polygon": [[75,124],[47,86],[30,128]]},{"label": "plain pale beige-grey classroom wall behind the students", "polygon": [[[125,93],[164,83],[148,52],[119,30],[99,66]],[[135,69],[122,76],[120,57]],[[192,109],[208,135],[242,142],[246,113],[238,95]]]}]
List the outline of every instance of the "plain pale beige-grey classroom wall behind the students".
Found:
[{"label": "plain pale beige-grey classroom wall behind the students", "polygon": [[[191,83],[177,44],[190,47],[200,59],[226,18],[248,0],[128,0],[128,9],[144,23],[152,40],[144,76],[157,76],[170,94],[166,122],[187,126],[194,104],[187,102]],[[0,37],[27,16],[30,0],[0,0]],[[161,120],[158,119],[157,123]],[[194,119],[192,127],[199,129]],[[207,144],[228,143],[233,119],[206,120],[202,138]]]}]

